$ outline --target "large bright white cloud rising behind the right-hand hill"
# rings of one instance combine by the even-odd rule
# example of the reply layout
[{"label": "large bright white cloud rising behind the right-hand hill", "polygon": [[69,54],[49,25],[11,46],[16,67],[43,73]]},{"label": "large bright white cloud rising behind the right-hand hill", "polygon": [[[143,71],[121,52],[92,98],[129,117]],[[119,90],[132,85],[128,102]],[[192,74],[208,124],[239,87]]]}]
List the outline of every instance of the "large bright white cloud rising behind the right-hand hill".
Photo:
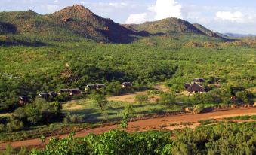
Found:
[{"label": "large bright white cloud rising behind the right-hand hill", "polygon": [[162,20],[168,17],[182,18],[182,6],[176,0],[156,0],[156,4],[150,6],[147,12],[131,14],[126,23],[143,23],[151,20]]}]

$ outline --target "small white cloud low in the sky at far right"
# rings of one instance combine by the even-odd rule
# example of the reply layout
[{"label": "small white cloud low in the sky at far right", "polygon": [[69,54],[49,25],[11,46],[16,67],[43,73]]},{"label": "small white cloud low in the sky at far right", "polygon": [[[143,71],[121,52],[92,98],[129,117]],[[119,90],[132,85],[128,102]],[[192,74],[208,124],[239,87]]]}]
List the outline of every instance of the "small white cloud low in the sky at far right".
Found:
[{"label": "small white cloud low in the sky at far right", "polygon": [[218,11],[216,14],[219,20],[228,20],[231,22],[242,23],[245,20],[245,15],[240,11],[230,12],[230,11]]}]

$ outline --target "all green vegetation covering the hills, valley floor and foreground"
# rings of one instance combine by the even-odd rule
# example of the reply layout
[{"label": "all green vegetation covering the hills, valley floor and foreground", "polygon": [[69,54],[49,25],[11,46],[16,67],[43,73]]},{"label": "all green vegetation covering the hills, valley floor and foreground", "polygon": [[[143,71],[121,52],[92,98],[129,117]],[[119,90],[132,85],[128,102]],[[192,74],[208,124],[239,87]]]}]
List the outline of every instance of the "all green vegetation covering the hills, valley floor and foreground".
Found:
[{"label": "all green vegetation covering the hills, valley floor and foreground", "polygon": [[[122,120],[125,128],[132,117],[187,107],[201,113],[212,105],[255,102],[254,38],[227,40],[175,18],[126,27],[129,29],[79,5],[47,15],[0,13],[2,141],[66,133],[111,120]],[[187,94],[184,84],[193,78],[205,78],[202,87],[206,93]],[[122,87],[125,81],[132,87]],[[160,81],[165,81],[170,92],[151,90],[137,95],[134,103],[108,100],[108,96],[149,90]],[[105,84],[106,88],[79,96],[38,96],[65,88],[84,90],[87,84]],[[30,96],[32,101],[22,105],[19,96]],[[73,103],[79,108],[72,107]],[[84,139],[70,135],[53,139],[45,150],[32,153],[253,154],[252,126],[254,123],[203,126],[187,129],[177,139],[171,139],[170,133],[128,135],[119,130]]]}]

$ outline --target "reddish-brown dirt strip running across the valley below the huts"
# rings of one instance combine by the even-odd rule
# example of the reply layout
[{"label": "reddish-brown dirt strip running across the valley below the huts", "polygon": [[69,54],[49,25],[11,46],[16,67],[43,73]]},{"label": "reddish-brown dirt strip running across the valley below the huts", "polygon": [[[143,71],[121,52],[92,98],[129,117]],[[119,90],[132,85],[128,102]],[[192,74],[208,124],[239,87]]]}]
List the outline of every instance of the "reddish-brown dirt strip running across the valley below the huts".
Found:
[{"label": "reddish-brown dirt strip running across the valley below the huts", "polygon": [[[161,118],[150,118],[147,120],[137,120],[135,122],[131,122],[128,124],[128,132],[135,132],[135,131],[146,131],[150,129],[161,129],[159,126],[168,126],[171,123],[193,123],[188,125],[187,127],[195,128],[199,126],[197,123],[199,120],[208,120],[208,119],[221,119],[224,117],[235,117],[235,116],[245,116],[245,115],[256,115],[256,108],[237,108],[237,109],[230,109],[230,110],[223,110],[223,111],[212,111],[205,114],[179,114],[174,116],[168,117],[161,117]],[[117,125],[112,126],[103,126],[94,129],[82,130],[80,132],[76,132],[75,137],[84,137],[90,133],[100,134],[103,132],[108,132],[109,130],[116,129]],[[177,129],[181,128],[182,126],[171,126],[171,128],[166,129]],[[186,127],[186,126],[183,126]],[[60,135],[59,138],[65,138],[66,135]],[[48,144],[49,141],[48,137],[45,141],[45,144]],[[30,139],[25,141],[14,141],[9,143],[0,143],[0,150],[5,150],[7,144],[11,144],[11,147],[32,147],[32,146],[39,146],[42,145],[39,138]]]}]

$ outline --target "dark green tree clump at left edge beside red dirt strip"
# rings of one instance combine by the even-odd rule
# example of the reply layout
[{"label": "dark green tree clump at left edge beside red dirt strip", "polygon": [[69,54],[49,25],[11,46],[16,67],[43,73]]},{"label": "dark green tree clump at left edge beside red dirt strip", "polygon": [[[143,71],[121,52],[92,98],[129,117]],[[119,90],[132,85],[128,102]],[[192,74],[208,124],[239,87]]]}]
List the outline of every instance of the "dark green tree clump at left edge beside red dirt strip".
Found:
[{"label": "dark green tree clump at left edge beside red dirt strip", "polygon": [[63,120],[60,102],[46,102],[37,98],[35,102],[17,108],[11,117],[0,117],[1,132],[15,132],[29,126]]}]

